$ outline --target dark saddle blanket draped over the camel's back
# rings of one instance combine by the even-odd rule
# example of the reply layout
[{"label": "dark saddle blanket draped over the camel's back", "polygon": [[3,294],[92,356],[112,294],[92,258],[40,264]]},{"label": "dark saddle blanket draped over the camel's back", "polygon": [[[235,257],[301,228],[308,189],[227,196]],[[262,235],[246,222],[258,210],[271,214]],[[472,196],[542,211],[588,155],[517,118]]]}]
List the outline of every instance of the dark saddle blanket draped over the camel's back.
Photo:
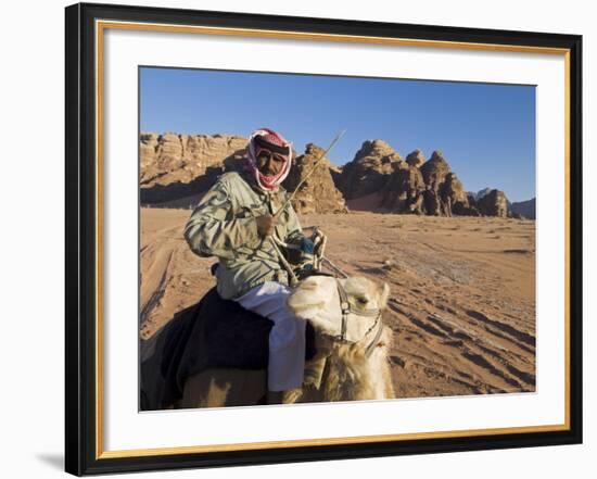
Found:
[{"label": "dark saddle blanket draped over the camel's back", "polygon": [[[272,322],[223,300],[216,289],[182,310],[150,340],[141,358],[142,411],[164,409],[182,398],[187,378],[211,368],[265,369]],[[306,328],[305,358],[315,355]]]}]

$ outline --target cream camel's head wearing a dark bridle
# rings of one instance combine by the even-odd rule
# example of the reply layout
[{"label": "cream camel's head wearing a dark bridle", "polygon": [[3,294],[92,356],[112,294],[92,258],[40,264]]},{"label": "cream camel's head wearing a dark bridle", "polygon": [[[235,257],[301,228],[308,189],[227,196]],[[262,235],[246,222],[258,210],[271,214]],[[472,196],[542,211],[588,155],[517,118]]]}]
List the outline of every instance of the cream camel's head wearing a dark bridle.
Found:
[{"label": "cream camel's head wearing a dark bridle", "polygon": [[312,323],[315,330],[328,338],[342,333],[342,310],[339,283],[346,293],[351,312],[345,323],[344,339],[356,343],[376,325],[377,313],[386,305],[390,288],[365,277],[336,279],[312,276],[302,281],[288,299],[293,314]]}]

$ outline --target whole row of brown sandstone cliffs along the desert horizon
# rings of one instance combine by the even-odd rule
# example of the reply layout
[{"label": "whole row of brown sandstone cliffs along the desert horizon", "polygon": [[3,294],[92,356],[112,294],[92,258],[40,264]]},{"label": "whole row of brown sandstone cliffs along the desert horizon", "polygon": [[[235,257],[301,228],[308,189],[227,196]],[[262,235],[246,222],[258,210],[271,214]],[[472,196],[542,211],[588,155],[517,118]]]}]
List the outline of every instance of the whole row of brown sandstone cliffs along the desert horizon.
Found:
[{"label": "whole row of brown sandstone cliffs along the desert horizon", "polygon": [[[240,169],[246,138],[234,135],[141,134],[141,203],[189,207],[224,172]],[[283,186],[294,191],[321,148],[308,143],[295,157]],[[300,213],[345,213],[345,200],[365,198],[366,209],[436,216],[515,216],[503,191],[467,193],[440,151],[425,160],[420,150],[406,160],[385,141],[365,141],[353,161],[338,167],[325,159],[301,187],[293,205]],[[524,215],[531,217],[530,215]],[[534,215],[533,215],[534,217]]]}]

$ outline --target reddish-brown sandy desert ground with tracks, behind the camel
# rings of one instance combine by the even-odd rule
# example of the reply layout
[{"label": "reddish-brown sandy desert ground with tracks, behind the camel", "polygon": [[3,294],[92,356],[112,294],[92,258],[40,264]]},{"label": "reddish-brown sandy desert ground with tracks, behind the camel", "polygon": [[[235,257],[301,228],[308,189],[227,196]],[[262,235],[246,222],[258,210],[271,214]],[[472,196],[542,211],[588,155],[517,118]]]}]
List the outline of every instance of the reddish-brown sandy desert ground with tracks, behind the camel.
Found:
[{"label": "reddish-brown sandy desert ground with tracks, behind the camel", "polygon": [[[141,209],[141,337],[214,286],[188,248],[189,210]],[[386,281],[398,398],[535,390],[535,222],[355,212],[306,215],[327,255]],[[392,266],[384,266],[390,261]]]}]

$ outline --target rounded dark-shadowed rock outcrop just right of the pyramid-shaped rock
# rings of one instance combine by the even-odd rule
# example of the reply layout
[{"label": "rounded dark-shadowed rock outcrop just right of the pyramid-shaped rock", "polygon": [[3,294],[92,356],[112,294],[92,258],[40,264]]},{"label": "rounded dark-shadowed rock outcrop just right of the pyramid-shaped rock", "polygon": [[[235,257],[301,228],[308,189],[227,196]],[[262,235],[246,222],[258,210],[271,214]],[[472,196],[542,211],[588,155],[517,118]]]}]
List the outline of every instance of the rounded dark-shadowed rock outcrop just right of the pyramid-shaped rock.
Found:
[{"label": "rounded dark-shadowed rock outcrop just right of the pyramid-shaped rock", "polygon": [[383,140],[367,140],[342,168],[338,187],[347,200],[380,191],[402,156]]}]

